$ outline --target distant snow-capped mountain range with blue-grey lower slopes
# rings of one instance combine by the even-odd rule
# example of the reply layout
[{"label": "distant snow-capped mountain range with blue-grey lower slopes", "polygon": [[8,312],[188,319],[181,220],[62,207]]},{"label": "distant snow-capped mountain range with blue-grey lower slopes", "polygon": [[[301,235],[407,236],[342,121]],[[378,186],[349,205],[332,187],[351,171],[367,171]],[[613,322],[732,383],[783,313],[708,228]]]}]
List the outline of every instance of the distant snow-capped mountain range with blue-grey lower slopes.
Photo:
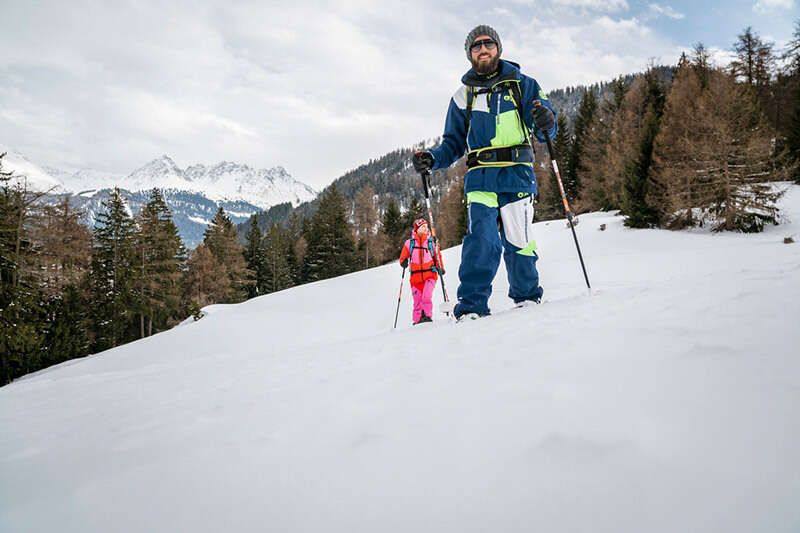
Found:
[{"label": "distant snow-capped mountain range with blue-grey lower slopes", "polygon": [[0,146],[0,153],[3,152],[7,152],[3,158],[5,171],[13,171],[17,181],[25,179],[31,190],[47,192],[52,201],[68,195],[73,206],[84,211],[85,222],[90,226],[114,187],[120,189],[133,213],[147,201],[152,189],[161,189],[181,238],[189,248],[202,240],[219,207],[239,224],[273,205],[297,206],[317,197],[317,191],[292,178],[281,166],[255,169],[223,161],[181,169],[169,156],[162,155],[124,175],[41,166],[19,152]]}]

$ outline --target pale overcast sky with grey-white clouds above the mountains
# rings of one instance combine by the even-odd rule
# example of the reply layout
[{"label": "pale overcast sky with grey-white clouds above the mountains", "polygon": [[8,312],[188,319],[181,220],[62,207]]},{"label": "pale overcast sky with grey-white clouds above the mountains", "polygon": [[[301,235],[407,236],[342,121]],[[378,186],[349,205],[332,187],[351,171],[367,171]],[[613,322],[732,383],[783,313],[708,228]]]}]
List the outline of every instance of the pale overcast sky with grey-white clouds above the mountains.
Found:
[{"label": "pale overcast sky with grey-white clouds above the mountains", "polygon": [[121,174],[161,154],[282,165],[321,189],[441,134],[477,24],[552,90],[730,49],[748,25],[782,46],[797,2],[0,0],[0,144]]}]

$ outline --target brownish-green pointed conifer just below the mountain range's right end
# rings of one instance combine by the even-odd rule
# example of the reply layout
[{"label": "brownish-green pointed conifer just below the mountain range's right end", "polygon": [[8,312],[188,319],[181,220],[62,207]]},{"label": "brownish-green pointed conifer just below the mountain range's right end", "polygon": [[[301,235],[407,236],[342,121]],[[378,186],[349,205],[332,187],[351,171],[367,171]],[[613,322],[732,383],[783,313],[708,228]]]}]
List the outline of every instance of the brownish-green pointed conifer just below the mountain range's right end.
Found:
[{"label": "brownish-green pointed conifer just below the mountain range's right end", "polygon": [[206,228],[203,244],[224,268],[228,278],[227,294],[215,303],[238,303],[246,300],[247,287],[252,283],[255,273],[248,270],[245,264],[236,227],[223,208],[217,210]]}]

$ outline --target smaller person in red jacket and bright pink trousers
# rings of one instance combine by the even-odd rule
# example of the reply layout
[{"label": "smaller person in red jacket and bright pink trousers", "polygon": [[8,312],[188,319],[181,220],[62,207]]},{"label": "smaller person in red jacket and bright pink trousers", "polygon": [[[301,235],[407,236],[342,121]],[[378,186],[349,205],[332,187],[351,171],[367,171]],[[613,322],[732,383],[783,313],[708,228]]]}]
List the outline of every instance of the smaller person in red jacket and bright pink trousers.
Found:
[{"label": "smaller person in red jacket and bright pink trousers", "polygon": [[428,221],[417,219],[411,230],[411,238],[403,244],[400,252],[400,265],[406,268],[411,260],[411,294],[414,297],[414,324],[432,322],[433,289],[436,287],[438,273],[444,274],[442,254],[430,236]]}]

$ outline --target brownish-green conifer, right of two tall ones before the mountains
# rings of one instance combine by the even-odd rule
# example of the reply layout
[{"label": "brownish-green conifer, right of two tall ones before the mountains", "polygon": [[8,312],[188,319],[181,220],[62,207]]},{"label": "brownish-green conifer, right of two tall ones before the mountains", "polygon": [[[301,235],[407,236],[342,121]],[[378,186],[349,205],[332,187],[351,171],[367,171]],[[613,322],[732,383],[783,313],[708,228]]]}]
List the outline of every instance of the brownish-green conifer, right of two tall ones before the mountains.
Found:
[{"label": "brownish-green conifer, right of two tall ones before the mountains", "polygon": [[186,249],[161,191],[153,189],[138,217],[136,285],[139,335],[163,331],[182,317],[181,287]]}]

